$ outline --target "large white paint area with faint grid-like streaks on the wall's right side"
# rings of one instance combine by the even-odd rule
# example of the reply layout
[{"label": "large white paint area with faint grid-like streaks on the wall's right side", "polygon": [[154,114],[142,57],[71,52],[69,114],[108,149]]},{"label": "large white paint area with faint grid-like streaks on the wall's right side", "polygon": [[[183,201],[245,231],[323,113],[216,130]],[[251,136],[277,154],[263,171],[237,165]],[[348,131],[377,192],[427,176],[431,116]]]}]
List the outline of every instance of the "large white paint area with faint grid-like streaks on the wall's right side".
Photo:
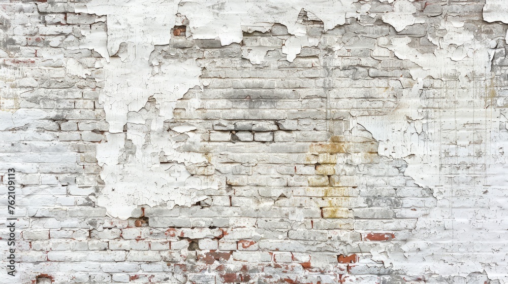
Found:
[{"label": "large white paint area with faint grid-like streaks on the wall's right side", "polygon": [[[486,8],[489,9],[492,6]],[[488,18],[493,19],[493,15]],[[401,30],[404,25],[396,29]],[[404,159],[408,163],[405,174],[422,187],[433,189],[438,205],[429,215],[419,218],[414,237],[401,247],[403,253],[391,245],[376,246],[371,253],[374,260],[410,275],[431,271],[440,276],[465,277],[485,269],[491,279],[505,282],[507,279],[501,275],[504,268],[487,266],[487,269],[481,264],[493,260],[474,255],[475,249],[471,248],[481,242],[485,233],[478,226],[496,221],[484,214],[479,216],[473,202],[465,209],[464,201],[454,197],[458,188],[467,188],[471,195],[489,200],[493,209],[499,206],[495,200],[500,197],[486,192],[506,189],[507,183],[501,177],[506,170],[505,159],[490,158],[497,155],[492,149],[503,149],[506,141],[506,134],[499,131],[504,125],[503,116],[499,109],[491,108],[487,99],[487,80],[492,77],[491,39],[474,38],[458,17],[448,16],[440,28],[446,30],[443,37],[429,36],[437,46],[433,54],[410,48],[409,38],[391,39],[391,45],[386,48],[398,58],[415,63],[410,73],[417,83],[410,92],[404,89],[397,108],[391,113],[357,118],[379,140],[379,154]],[[432,100],[421,97],[422,80],[427,76],[442,80],[442,99],[437,110],[428,107]],[[454,82],[456,79],[460,83]],[[486,188],[489,190],[484,192]],[[483,225],[469,220],[467,216],[471,215]],[[455,257],[458,251],[470,255]],[[502,260],[494,262],[497,261]],[[425,265],[417,264],[421,262]]]}]

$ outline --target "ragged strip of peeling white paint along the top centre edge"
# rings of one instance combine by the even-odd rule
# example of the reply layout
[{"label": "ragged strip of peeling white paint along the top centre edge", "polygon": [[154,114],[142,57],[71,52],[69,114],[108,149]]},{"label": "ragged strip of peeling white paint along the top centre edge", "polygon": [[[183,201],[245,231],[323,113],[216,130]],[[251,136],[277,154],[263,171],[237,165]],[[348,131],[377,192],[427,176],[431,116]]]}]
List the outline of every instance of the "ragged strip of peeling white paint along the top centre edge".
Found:
[{"label": "ragged strip of peeling white paint along the top centre edge", "polygon": [[[220,39],[221,45],[240,43],[242,26],[258,31],[267,31],[273,23],[288,27],[290,34],[296,37],[306,35],[305,26],[298,21],[301,9],[324,22],[329,30],[345,23],[346,18],[359,17],[355,0],[294,1],[291,5],[278,1],[200,0],[180,2],[178,12],[189,20],[189,31],[194,39]],[[199,11],[196,13],[195,11]],[[333,13],[330,13],[333,11]]]}]

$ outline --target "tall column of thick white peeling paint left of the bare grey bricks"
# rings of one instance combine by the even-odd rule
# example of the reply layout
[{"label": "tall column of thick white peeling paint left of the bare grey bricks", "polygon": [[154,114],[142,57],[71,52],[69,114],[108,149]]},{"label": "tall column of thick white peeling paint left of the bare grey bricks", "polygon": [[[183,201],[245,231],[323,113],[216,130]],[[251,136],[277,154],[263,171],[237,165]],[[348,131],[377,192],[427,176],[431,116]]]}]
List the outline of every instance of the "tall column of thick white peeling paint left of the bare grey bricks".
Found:
[{"label": "tall column of thick white peeling paint left of the bare grey bricks", "polygon": [[[177,143],[163,129],[164,121],[173,118],[176,101],[188,89],[200,85],[201,68],[194,59],[173,60],[158,67],[148,62],[154,45],[169,44],[169,31],[175,23],[177,7],[178,3],[171,1],[131,1],[122,5],[115,1],[92,1],[79,10],[108,17],[110,59],[105,56],[106,62],[101,63],[106,86],[99,101],[104,104],[111,134],[108,134],[108,142],[99,145],[97,150],[97,159],[103,167],[101,178],[106,183],[98,197],[98,205],[121,219],[131,217],[138,205],[190,206],[206,198],[199,190],[217,187],[213,183],[202,183],[188,173],[185,165],[206,160],[199,155],[177,153]],[[97,40],[93,36],[87,34],[84,45],[103,50],[104,35],[99,33]],[[99,45],[90,46],[90,43]],[[125,50],[119,57],[113,56],[122,43],[126,43]],[[156,110],[150,110],[141,120],[137,117],[129,121],[129,112],[139,112],[151,96],[156,100]],[[129,127],[125,134],[123,129],[129,122],[146,124],[150,129],[149,137]],[[136,153],[120,163],[126,139],[132,141]],[[161,164],[158,159],[161,153],[175,162]]]}]

